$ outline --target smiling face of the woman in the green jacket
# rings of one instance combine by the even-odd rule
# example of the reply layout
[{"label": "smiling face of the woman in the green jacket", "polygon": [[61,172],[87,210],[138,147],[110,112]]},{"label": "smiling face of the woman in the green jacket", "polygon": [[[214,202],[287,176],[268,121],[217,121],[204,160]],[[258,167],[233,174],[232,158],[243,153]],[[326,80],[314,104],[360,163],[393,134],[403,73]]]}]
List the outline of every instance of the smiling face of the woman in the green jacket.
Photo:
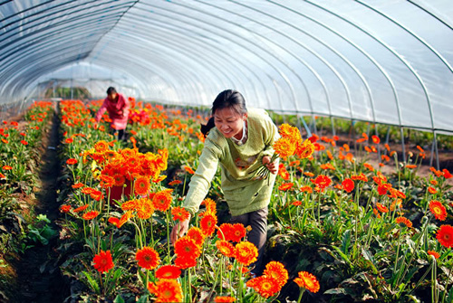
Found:
[{"label": "smiling face of the woman in the green jacket", "polygon": [[214,124],[225,137],[241,139],[242,128],[247,115],[240,115],[234,109],[217,109],[214,114]]}]

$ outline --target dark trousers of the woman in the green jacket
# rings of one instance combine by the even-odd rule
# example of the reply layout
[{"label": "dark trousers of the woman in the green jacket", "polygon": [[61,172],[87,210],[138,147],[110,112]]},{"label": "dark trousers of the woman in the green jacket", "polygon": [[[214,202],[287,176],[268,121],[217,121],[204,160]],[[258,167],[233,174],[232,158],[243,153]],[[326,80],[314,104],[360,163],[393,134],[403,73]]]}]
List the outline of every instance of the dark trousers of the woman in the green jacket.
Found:
[{"label": "dark trousers of the woman in the green jacket", "polygon": [[261,275],[263,268],[263,256],[265,253],[265,241],[267,239],[267,207],[251,213],[244,213],[232,216],[230,223],[241,223],[244,226],[250,225],[252,230],[247,234],[247,241],[255,244],[258,249],[258,258],[251,264],[251,272],[256,276]]}]

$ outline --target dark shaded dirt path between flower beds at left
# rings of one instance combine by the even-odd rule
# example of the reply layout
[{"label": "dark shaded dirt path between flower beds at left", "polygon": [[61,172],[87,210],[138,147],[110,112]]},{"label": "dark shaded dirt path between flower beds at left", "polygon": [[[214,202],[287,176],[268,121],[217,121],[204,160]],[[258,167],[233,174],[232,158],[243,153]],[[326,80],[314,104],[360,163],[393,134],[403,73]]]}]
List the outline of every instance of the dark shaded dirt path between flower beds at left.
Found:
[{"label": "dark shaded dirt path between flower beds at left", "polygon": [[[36,193],[35,213],[45,214],[52,222],[50,226],[58,231],[54,221],[59,216],[57,202],[57,178],[60,163],[57,156],[59,119],[54,115],[52,128],[43,137],[43,156],[41,158],[41,189]],[[50,147],[50,148],[49,148]],[[69,290],[59,270],[58,254],[55,251],[58,233],[47,245],[37,244],[27,250],[16,264],[17,294],[12,302],[51,303],[63,302]]]}]

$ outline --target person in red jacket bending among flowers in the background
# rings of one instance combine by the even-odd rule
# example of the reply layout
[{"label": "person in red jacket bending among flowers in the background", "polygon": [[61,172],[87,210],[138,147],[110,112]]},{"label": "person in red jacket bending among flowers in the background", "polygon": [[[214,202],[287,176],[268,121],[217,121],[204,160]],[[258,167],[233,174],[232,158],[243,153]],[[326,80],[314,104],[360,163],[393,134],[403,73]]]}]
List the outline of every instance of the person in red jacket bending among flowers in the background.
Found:
[{"label": "person in red jacket bending among flowers in the background", "polygon": [[102,114],[107,110],[111,118],[112,132],[118,132],[118,139],[124,140],[126,138],[125,129],[128,125],[129,109],[129,100],[110,87],[107,90],[107,98],[104,99],[101,109],[96,113],[96,123],[99,123]]}]

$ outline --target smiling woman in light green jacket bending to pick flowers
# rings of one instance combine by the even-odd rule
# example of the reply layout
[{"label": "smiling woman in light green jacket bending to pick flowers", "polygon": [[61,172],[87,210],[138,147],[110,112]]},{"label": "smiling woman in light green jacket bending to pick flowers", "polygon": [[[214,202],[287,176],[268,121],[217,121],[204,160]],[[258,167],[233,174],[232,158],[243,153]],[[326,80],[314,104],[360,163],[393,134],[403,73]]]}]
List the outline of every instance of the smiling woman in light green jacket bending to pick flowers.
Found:
[{"label": "smiling woman in light green jacket bending to pick flowers", "polygon": [[[205,199],[217,166],[221,167],[221,187],[231,213],[230,223],[252,228],[247,234],[258,249],[252,273],[262,270],[267,233],[267,206],[275,184],[278,161],[271,163],[278,128],[263,109],[246,109],[246,101],[236,90],[224,90],[212,105],[212,118],[197,171],[192,176],[183,207],[193,216]],[[212,124],[212,121],[214,123]],[[206,135],[206,134],[205,134]],[[263,179],[256,175],[260,166],[272,174]],[[171,241],[188,231],[189,220],[178,223]]]}]

